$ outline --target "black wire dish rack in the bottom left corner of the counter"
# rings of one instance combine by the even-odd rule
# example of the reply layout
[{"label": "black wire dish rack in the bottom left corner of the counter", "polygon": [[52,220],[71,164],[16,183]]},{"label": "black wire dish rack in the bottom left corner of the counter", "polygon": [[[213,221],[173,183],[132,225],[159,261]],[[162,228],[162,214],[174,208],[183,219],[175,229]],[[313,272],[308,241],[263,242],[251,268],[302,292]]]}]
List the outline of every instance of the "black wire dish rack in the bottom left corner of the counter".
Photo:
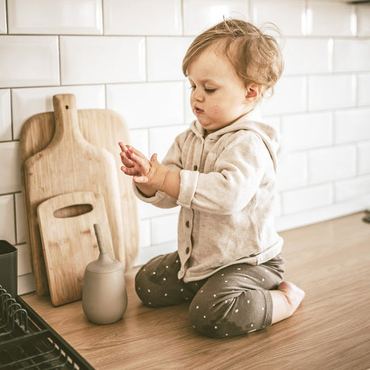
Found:
[{"label": "black wire dish rack in the bottom left corner of the counter", "polygon": [[21,297],[0,285],[0,369],[94,370]]}]

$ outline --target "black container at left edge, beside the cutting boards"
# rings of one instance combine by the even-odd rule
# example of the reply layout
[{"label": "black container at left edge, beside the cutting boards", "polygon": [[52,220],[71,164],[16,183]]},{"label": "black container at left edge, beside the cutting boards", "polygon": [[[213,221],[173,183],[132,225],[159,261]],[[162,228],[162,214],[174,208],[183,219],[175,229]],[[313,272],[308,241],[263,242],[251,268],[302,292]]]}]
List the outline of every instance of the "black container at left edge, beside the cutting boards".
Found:
[{"label": "black container at left edge, beside the cutting boards", "polygon": [[17,249],[6,240],[0,240],[0,285],[17,297]]}]

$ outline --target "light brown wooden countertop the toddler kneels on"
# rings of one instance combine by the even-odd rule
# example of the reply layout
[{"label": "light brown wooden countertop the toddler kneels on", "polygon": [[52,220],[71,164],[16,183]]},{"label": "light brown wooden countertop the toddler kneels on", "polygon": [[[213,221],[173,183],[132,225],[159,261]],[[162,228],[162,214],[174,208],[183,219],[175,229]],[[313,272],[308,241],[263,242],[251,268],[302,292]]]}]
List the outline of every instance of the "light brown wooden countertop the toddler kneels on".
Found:
[{"label": "light brown wooden countertop the toddler kneels on", "polygon": [[23,298],[97,370],[370,368],[370,224],[350,215],[281,233],[285,278],[305,289],[292,317],[267,330],[212,339],[190,326],[188,305],[147,308],[126,274],[124,319],[96,326],[81,301],[53,308],[48,298]]}]

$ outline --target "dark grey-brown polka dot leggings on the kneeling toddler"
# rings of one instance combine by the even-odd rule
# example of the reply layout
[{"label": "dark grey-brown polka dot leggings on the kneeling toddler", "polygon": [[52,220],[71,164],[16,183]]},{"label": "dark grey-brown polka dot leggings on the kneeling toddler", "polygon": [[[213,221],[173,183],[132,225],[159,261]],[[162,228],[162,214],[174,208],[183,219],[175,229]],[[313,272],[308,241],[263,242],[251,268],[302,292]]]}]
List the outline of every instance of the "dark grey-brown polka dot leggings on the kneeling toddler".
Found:
[{"label": "dark grey-brown polka dot leggings on the kneeling toddler", "polygon": [[271,326],[272,299],[268,290],[283,279],[284,259],[260,265],[234,264],[209,278],[178,280],[178,253],[159,255],[135,278],[137,295],[149,307],[190,302],[193,328],[209,337],[232,337]]}]

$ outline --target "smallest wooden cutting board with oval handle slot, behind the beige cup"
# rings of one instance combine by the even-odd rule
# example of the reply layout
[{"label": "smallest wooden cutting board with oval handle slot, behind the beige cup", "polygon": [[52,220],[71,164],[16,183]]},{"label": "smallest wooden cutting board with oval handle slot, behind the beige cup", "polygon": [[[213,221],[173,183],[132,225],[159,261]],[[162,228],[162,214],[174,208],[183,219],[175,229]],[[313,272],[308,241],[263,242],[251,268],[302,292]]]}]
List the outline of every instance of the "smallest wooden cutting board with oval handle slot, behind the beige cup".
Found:
[{"label": "smallest wooden cutting board with oval handle slot, behind the beige cup", "polygon": [[99,256],[94,224],[99,224],[109,255],[112,238],[103,196],[72,192],[37,207],[51,302],[62,305],[82,298],[87,264]]}]

